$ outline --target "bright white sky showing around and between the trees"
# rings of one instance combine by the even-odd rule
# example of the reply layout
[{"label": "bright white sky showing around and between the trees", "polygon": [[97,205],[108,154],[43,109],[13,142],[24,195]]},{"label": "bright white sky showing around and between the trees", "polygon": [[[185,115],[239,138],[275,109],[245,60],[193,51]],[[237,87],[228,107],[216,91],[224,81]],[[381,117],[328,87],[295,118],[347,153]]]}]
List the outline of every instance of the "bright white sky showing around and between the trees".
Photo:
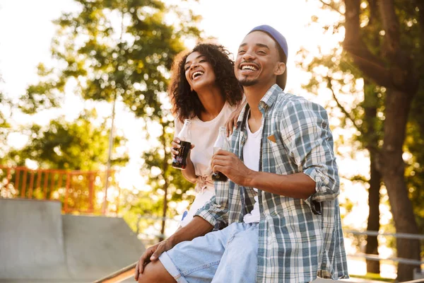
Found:
[{"label": "bright white sky showing around and between the trees", "polygon": [[[320,96],[314,97],[302,91],[301,83],[306,82],[307,76],[294,64],[295,54],[301,47],[314,52],[321,46],[325,52],[338,40],[324,36],[317,26],[307,26],[318,6],[319,1],[314,0],[200,0],[199,4],[194,4],[192,8],[195,13],[203,17],[200,28],[206,35],[217,37],[218,42],[228,47],[233,54],[236,54],[243,37],[254,26],[268,24],[280,30],[288,41],[287,90],[322,103],[328,98],[328,93],[323,92]],[[0,74],[4,79],[0,89],[8,96],[16,99],[25,93],[28,84],[37,82],[35,67],[40,62],[50,61],[49,47],[54,35],[52,20],[58,18],[62,11],[73,11],[74,7],[72,0],[0,0]],[[337,13],[326,12],[325,16],[320,18],[320,23],[323,23],[322,21],[332,23],[337,18]],[[66,105],[81,105],[81,100],[74,96],[66,99]],[[104,112],[110,113],[110,105],[102,105],[101,108]],[[46,117],[58,114],[57,111]],[[73,117],[78,113],[67,111],[66,114]],[[118,114],[117,128],[129,137],[130,156],[140,156],[142,149],[140,141],[144,135],[141,131],[134,131],[134,128],[141,128],[141,125],[134,123],[129,125],[131,115],[119,109]],[[17,119],[20,120],[21,117]],[[47,122],[45,118],[40,119],[42,122]],[[15,137],[13,142],[19,144],[20,140],[22,139]],[[133,176],[138,175],[139,166],[139,160],[131,160],[129,167],[132,168],[130,170]],[[365,168],[366,171],[367,163],[365,162],[364,166],[364,163],[358,160],[339,160],[339,166],[341,171],[348,170],[355,175],[360,173],[361,169]],[[345,187],[353,192],[348,197],[358,204],[354,208],[358,213],[351,214],[351,219],[344,219],[345,224],[363,223],[367,217],[363,213],[367,211],[366,203],[363,202],[367,199],[367,192],[365,188],[347,181]],[[363,227],[359,226],[358,229],[360,228]]]}]

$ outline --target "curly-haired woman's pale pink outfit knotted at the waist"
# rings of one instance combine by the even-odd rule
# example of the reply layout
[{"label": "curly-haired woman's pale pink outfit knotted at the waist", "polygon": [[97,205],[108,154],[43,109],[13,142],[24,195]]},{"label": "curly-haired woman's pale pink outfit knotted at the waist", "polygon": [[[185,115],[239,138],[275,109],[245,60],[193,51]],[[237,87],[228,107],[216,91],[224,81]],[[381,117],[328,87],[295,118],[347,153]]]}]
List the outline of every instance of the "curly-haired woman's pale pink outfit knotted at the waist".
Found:
[{"label": "curly-haired woman's pale pink outfit knotted at the waist", "polygon": [[[213,187],[211,160],[213,156],[213,144],[218,137],[219,127],[224,127],[228,117],[234,112],[236,106],[231,106],[225,102],[223,109],[219,112],[218,116],[211,121],[202,121],[199,117],[192,118],[190,130],[192,132],[192,144],[194,149],[190,154],[194,165],[194,172],[199,176],[196,180],[196,199],[189,209],[187,216],[181,222],[185,226],[193,219],[197,210],[204,206],[208,200],[215,195],[215,188]],[[175,137],[182,129],[183,123],[175,119]]]}]

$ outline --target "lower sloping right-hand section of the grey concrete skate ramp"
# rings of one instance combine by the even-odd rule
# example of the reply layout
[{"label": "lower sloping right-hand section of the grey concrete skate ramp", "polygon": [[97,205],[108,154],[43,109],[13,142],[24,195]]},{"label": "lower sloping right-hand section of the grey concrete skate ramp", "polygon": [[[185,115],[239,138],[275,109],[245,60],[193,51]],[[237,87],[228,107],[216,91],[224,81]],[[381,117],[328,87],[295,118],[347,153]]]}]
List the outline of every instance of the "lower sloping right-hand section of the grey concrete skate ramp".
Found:
[{"label": "lower sloping right-hand section of the grey concrete skate ramp", "polygon": [[100,279],[131,265],[144,251],[121,218],[64,215],[63,224],[72,278]]}]

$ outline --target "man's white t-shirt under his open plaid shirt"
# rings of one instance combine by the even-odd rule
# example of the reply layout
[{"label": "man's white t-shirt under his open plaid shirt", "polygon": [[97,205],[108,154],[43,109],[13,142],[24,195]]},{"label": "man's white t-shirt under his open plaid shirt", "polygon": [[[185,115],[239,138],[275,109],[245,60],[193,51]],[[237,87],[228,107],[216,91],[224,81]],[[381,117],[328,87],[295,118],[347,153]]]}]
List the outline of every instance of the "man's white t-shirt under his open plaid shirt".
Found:
[{"label": "man's white t-shirt under his open plaid shirt", "polygon": [[[262,126],[254,133],[250,131],[249,122],[246,120],[247,139],[245,146],[243,146],[243,161],[245,166],[253,171],[259,171],[259,155],[261,154],[261,137],[262,137]],[[254,187],[255,192],[258,189]],[[261,216],[259,214],[259,203],[258,196],[254,197],[254,206],[252,212],[245,215],[243,220],[245,223],[259,222]]]}]

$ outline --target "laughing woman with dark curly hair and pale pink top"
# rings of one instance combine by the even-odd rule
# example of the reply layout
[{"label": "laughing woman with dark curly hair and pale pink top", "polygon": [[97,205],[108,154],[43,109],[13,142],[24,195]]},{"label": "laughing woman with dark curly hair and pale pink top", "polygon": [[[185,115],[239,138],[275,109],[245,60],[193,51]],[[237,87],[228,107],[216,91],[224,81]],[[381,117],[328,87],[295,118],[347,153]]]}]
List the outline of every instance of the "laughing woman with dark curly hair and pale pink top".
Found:
[{"label": "laughing woman with dark curly hair and pale pink top", "polygon": [[[185,119],[192,120],[192,149],[187,157],[184,178],[196,183],[196,198],[187,216],[185,226],[197,209],[215,195],[211,178],[213,143],[219,127],[232,125],[244,103],[244,96],[234,74],[234,62],[222,45],[199,44],[188,54],[177,57],[172,68],[170,96],[175,117],[175,137]],[[172,157],[179,154],[179,139],[172,141]]]}]

